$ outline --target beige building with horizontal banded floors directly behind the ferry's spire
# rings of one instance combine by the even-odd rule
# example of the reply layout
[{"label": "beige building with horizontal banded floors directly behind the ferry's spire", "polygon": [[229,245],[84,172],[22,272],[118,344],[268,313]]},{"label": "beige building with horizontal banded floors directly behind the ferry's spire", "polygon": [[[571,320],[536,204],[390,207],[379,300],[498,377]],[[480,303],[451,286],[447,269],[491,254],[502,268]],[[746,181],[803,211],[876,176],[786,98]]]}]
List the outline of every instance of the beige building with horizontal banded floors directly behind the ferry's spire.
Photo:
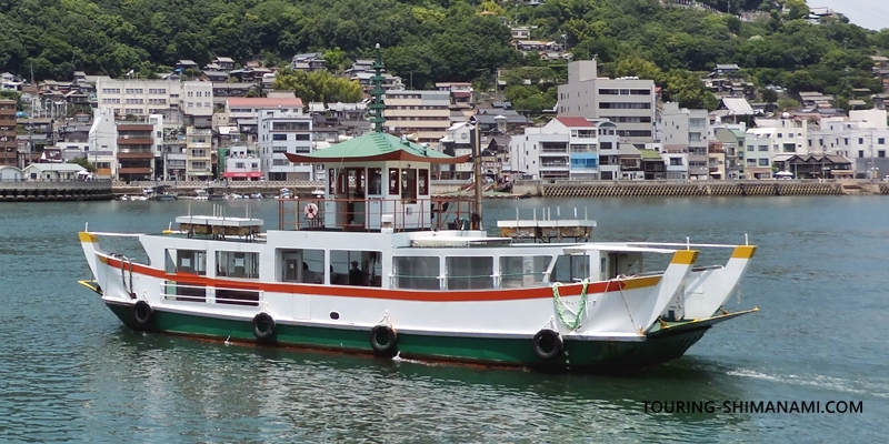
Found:
[{"label": "beige building with horizontal banded floors directly behind the ferry's spire", "polygon": [[386,124],[396,135],[417,134],[418,143],[438,149],[451,125],[449,91],[386,91]]}]

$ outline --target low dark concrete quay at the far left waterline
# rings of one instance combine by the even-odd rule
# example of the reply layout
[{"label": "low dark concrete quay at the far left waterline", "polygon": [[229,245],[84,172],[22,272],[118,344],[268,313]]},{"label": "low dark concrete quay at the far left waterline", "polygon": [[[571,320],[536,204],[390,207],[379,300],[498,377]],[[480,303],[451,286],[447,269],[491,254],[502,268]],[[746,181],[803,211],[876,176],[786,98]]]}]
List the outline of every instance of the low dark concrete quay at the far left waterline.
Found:
[{"label": "low dark concrete quay at the far left waterline", "polygon": [[111,200],[110,180],[0,181],[0,202]]}]

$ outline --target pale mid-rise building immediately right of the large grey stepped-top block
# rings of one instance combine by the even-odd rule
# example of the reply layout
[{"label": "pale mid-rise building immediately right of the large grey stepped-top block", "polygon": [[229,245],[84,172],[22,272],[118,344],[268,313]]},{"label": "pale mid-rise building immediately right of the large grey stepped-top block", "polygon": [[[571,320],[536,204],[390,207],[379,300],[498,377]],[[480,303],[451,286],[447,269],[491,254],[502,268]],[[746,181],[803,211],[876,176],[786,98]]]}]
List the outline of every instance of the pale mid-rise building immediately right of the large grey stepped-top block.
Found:
[{"label": "pale mid-rise building immediately right of the large grey stepped-top block", "polygon": [[668,152],[688,153],[689,179],[709,179],[707,110],[680,109],[679,103],[667,102],[663,104],[660,120],[663,149]]}]

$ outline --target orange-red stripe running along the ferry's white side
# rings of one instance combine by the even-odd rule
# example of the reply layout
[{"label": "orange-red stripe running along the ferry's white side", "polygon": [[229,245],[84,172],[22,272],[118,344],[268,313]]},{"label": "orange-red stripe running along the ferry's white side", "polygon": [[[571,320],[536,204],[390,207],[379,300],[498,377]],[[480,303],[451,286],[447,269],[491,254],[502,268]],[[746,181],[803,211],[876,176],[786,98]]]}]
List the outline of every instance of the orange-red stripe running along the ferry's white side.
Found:
[{"label": "orange-red stripe running along the ferry's white side", "polygon": [[[99,256],[109,266],[120,269],[120,260],[107,256]],[[127,270],[129,270],[127,264]],[[277,283],[277,282],[244,282],[226,279],[207,278],[191,273],[168,274],[163,270],[153,269],[141,264],[132,264],[134,274],[143,274],[151,278],[174,281],[186,285],[219,286],[233,290],[264,291],[273,293],[304,293],[319,296],[347,296],[347,297],[369,297],[388,299],[397,301],[424,301],[424,302],[485,302],[485,301],[516,301],[526,299],[552,297],[552,290],[548,286],[536,289],[501,289],[501,290],[449,290],[441,291],[414,291],[414,290],[384,290],[372,286],[344,286],[344,285],[313,285],[299,283]],[[660,276],[648,276],[638,279],[625,279],[621,281],[597,282],[587,286],[587,294],[605,293],[620,290],[633,290],[657,285]],[[559,295],[577,296],[580,295],[583,285],[567,284],[559,286]]]}]

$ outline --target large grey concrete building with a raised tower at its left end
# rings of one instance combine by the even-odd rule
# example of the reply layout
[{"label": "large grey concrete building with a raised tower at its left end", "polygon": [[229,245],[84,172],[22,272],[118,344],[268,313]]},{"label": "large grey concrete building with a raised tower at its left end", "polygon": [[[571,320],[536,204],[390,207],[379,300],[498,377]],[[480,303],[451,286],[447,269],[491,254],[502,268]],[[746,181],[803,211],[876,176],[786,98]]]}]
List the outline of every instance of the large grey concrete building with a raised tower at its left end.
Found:
[{"label": "large grey concrete building with a raised tower at its left end", "polygon": [[559,85],[559,115],[608,119],[621,141],[637,148],[655,140],[655,81],[599,78],[596,60],[568,63],[568,83]]}]

